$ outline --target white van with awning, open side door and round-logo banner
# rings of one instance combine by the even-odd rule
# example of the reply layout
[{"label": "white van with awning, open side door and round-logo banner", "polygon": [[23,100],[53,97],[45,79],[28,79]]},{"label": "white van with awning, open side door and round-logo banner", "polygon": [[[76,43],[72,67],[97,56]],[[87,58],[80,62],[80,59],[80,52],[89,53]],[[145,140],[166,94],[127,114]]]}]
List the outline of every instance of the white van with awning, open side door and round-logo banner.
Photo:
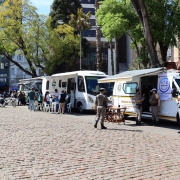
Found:
[{"label": "white van with awning, open side door and round-logo banner", "polygon": [[127,107],[126,115],[135,116],[134,95],[139,88],[145,93],[142,117],[151,118],[149,108],[150,90],[156,88],[160,96],[161,105],[159,117],[177,121],[179,118],[180,73],[174,69],[152,68],[126,71],[114,76],[98,80],[99,83],[115,82],[113,101],[115,106]]}]

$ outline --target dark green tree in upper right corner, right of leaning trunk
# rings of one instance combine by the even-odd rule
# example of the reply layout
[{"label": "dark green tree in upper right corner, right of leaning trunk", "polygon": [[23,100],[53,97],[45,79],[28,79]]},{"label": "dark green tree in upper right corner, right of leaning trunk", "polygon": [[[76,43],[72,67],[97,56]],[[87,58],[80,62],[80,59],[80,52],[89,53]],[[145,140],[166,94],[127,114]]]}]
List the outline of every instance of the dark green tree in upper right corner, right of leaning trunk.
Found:
[{"label": "dark green tree in upper right corner, right of leaning trunk", "polygon": [[167,59],[170,46],[177,46],[180,37],[179,0],[147,0],[149,24],[153,39],[160,47],[163,62]]}]

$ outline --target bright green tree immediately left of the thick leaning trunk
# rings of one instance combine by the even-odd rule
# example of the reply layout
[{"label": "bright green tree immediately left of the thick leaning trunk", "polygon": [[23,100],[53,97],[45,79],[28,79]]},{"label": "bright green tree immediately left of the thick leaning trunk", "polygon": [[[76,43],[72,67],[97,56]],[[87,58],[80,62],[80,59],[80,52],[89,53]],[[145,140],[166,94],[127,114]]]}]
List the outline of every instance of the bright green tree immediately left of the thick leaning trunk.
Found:
[{"label": "bright green tree immediately left of the thick leaning trunk", "polygon": [[[121,38],[127,33],[132,40],[131,47],[133,49],[136,48],[137,56],[140,58],[139,47],[145,45],[142,26],[140,25],[130,2],[128,0],[105,0],[101,3],[101,7],[96,14],[98,24],[102,26],[102,32],[106,39],[111,41],[113,38]],[[115,43],[115,45],[117,45],[117,43]],[[117,51],[118,48],[116,47],[116,54],[118,54]],[[116,66],[118,67],[119,61],[116,60],[116,63]],[[118,68],[117,73],[119,73]]]}]

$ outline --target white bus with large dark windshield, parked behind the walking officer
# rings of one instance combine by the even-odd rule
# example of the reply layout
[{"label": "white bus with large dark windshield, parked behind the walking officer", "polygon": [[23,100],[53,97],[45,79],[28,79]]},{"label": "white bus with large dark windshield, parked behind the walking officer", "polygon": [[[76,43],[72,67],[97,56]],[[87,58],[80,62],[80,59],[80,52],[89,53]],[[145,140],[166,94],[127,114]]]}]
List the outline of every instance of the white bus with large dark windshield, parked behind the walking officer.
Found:
[{"label": "white bus with large dark windshield, parked behind the walking officer", "polygon": [[95,97],[99,94],[99,88],[106,88],[107,96],[113,93],[114,83],[98,84],[98,80],[106,75],[100,71],[74,71],[53,74],[42,78],[43,95],[49,91],[51,95],[57,89],[59,93],[65,90],[69,95],[69,102],[72,108],[77,108],[79,112],[93,110]]}]

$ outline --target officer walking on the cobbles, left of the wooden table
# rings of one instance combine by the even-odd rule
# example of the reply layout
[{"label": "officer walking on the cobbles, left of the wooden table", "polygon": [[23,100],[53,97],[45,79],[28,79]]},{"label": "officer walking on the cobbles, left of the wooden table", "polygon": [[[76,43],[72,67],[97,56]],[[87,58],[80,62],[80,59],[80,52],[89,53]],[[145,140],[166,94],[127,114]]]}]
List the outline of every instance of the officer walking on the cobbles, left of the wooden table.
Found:
[{"label": "officer walking on the cobbles, left of the wooden table", "polygon": [[96,100],[94,103],[94,110],[97,111],[94,128],[97,128],[98,121],[101,117],[101,129],[107,129],[107,127],[104,126],[104,117],[106,113],[107,103],[109,102],[109,100],[105,95],[105,88],[100,88],[99,91],[100,94],[96,96]]}]

